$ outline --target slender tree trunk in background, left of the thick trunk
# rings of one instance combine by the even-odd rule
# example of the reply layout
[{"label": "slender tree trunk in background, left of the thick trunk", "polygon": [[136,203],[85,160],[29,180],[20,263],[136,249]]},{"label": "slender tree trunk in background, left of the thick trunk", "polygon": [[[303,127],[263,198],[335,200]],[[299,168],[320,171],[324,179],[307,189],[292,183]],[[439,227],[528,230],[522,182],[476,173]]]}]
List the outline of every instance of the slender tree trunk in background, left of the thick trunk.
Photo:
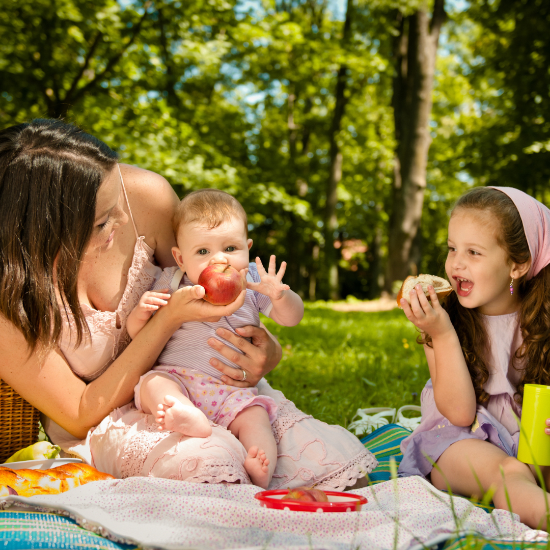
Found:
[{"label": "slender tree trunk in background, left of the thick trunk", "polygon": [[[349,42],[351,34],[351,12],[353,0],[348,0],[344,21],[342,43],[344,47]],[[338,202],[338,184],[342,180],[342,151],[338,145],[338,133],[344,117],[347,99],[345,97],[346,72],[345,63],[340,65],[336,81],[335,105],[329,130],[329,155],[331,157],[330,172],[327,182],[327,202],[324,208],[324,262],[328,276],[328,292],[331,300],[338,300],[340,288],[338,283],[338,251],[334,248],[334,233],[338,229],[336,204]]]}]

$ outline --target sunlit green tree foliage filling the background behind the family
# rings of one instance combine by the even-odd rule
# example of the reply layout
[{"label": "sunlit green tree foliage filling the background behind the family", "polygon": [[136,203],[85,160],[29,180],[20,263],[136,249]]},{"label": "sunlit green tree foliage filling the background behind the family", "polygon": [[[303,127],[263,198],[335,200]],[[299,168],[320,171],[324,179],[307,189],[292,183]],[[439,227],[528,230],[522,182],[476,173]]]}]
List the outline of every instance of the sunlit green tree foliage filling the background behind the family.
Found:
[{"label": "sunlit green tree foliage filling the background behind the family", "polygon": [[[345,2],[249,5],[4,0],[0,127],[64,116],[179,195],[227,190],[249,213],[252,254],[286,260],[305,298],[328,298],[334,262],[340,295],[375,298],[392,210],[394,15],[416,4],[355,0],[348,30]],[[541,195],[548,182],[546,4],[447,11],[415,241],[424,272],[439,271],[447,210],[469,185]]]}]

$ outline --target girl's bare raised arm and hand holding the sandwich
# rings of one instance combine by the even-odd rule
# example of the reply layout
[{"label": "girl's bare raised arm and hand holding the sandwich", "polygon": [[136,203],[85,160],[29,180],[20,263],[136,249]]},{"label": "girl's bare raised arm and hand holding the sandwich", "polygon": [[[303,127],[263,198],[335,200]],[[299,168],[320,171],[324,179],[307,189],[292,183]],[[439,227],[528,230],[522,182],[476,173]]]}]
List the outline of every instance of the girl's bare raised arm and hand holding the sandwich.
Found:
[{"label": "girl's bare raised arm and hand holding the sandwich", "polygon": [[[470,426],[476,415],[476,394],[464,360],[458,335],[437,294],[428,285],[431,304],[422,289],[411,293],[411,305],[401,300],[405,315],[432,337],[432,346],[424,346],[437,409],[455,426]],[[433,305],[432,305],[433,304]]]}]

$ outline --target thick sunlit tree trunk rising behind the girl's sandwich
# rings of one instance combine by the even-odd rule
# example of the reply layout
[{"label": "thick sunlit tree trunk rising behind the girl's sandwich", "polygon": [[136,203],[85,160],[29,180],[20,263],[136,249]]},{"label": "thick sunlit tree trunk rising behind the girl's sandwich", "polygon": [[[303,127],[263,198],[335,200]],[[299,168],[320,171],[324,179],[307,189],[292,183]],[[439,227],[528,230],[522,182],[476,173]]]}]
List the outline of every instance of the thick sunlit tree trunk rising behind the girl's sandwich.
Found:
[{"label": "thick sunlit tree trunk rising behind the girl's sandwich", "polygon": [[412,244],[420,226],[431,144],[428,123],[432,111],[433,74],[444,19],[444,0],[434,0],[431,20],[427,2],[407,18],[398,14],[393,81],[397,149],[384,283],[388,292],[394,281],[403,281],[410,272]]}]

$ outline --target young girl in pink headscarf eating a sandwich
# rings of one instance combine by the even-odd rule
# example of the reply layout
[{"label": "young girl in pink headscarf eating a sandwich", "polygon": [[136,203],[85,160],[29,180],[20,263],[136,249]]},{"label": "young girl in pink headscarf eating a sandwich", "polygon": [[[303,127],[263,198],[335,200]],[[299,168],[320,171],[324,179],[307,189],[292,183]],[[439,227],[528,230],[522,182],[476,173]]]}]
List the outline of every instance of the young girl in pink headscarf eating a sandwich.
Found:
[{"label": "young girl in pink headscarf eating a sandwich", "polygon": [[[546,529],[550,495],[515,456],[524,384],[550,384],[550,210],[517,189],[472,189],[453,209],[448,246],[456,294],[444,307],[432,287],[431,303],[420,288],[410,306],[401,299],[431,379],[399,475],[476,498],[494,489],[497,508],[508,495],[522,522]],[[550,467],[541,470],[548,487]]]}]

